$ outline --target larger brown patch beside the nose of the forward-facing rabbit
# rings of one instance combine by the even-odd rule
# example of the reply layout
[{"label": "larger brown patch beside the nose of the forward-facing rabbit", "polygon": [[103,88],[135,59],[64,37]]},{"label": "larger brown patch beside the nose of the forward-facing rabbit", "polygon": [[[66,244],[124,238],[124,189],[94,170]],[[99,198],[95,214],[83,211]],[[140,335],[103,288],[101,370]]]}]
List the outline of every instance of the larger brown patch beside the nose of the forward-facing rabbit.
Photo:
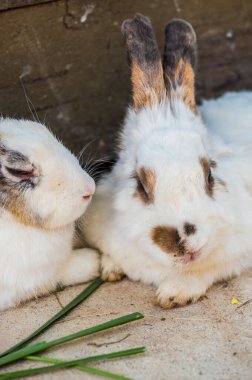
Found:
[{"label": "larger brown patch beside the nose of the forward-facing rabbit", "polygon": [[178,231],[169,226],[157,226],[151,230],[151,238],[154,244],[162,251],[173,256],[181,256],[185,253],[185,247],[180,240]]}]

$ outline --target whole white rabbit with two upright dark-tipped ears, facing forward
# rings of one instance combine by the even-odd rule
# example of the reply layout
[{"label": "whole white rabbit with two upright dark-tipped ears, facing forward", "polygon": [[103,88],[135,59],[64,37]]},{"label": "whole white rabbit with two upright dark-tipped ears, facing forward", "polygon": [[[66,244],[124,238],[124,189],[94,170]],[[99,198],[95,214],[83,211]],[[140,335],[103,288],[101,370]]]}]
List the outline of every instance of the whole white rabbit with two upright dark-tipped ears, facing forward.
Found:
[{"label": "whole white rabbit with two upright dark-tipped ears, facing forward", "polygon": [[82,230],[103,254],[105,280],[154,284],[157,303],[172,308],[252,266],[252,96],[206,102],[205,128],[190,24],[166,26],[163,67],[149,19],[122,31],[134,108]]}]

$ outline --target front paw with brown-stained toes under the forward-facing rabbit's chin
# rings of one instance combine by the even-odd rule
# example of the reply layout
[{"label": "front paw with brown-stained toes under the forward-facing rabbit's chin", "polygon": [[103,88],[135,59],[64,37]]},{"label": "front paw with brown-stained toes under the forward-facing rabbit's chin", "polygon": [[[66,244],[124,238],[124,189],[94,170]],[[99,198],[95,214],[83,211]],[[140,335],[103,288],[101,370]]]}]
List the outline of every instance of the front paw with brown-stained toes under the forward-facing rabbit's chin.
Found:
[{"label": "front paw with brown-stained toes under the forward-facing rabbit's chin", "polygon": [[155,304],[164,309],[185,306],[194,303],[205,295],[207,287],[197,278],[181,278],[179,281],[164,281],[157,290]]}]

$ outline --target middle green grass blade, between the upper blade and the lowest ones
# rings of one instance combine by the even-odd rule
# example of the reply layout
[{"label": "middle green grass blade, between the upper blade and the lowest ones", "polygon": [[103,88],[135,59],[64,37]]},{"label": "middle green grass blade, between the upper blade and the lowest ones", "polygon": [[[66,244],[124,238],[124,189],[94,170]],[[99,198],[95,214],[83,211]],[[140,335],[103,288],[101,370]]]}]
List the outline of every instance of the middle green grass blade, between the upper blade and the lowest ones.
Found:
[{"label": "middle green grass blade, between the upper blade and the lowest ones", "polygon": [[12,353],[0,358],[0,366],[12,363],[16,360],[24,358],[25,356],[36,354],[38,352],[47,350],[47,349],[52,348],[54,346],[57,346],[59,344],[70,342],[74,339],[78,339],[78,338],[81,338],[83,336],[91,335],[91,334],[97,333],[99,331],[103,331],[103,330],[110,329],[112,327],[123,325],[125,323],[134,322],[134,321],[141,319],[143,317],[144,317],[144,315],[141,313],[133,313],[133,314],[129,314],[129,315],[124,315],[123,317],[112,319],[111,321],[102,323],[102,324],[94,326],[94,327],[90,327],[90,328],[85,329],[85,330],[78,331],[74,334],[66,335],[62,338],[55,339],[55,340],[52,340],[50,342],[45,342],[45,343],[41,343],[40,345],[38,344],[35,346],[32,345],[32,346],[21,348],[18,351],[12,352]]}]

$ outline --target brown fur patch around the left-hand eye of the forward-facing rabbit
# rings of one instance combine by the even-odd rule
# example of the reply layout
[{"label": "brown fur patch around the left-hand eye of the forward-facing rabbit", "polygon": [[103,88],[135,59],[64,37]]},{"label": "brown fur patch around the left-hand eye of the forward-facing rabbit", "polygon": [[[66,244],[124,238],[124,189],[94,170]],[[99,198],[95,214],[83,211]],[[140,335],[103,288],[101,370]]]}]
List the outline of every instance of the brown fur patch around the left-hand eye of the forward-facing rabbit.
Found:
[{"label": "brown fur patch around the left-hand eye of the forward-facing rabbit", "polygon": [[153,203],[156,183],[154,170],[142,167],[133,177],[137,181],[134,197],[139,198],[145,204]]}]

